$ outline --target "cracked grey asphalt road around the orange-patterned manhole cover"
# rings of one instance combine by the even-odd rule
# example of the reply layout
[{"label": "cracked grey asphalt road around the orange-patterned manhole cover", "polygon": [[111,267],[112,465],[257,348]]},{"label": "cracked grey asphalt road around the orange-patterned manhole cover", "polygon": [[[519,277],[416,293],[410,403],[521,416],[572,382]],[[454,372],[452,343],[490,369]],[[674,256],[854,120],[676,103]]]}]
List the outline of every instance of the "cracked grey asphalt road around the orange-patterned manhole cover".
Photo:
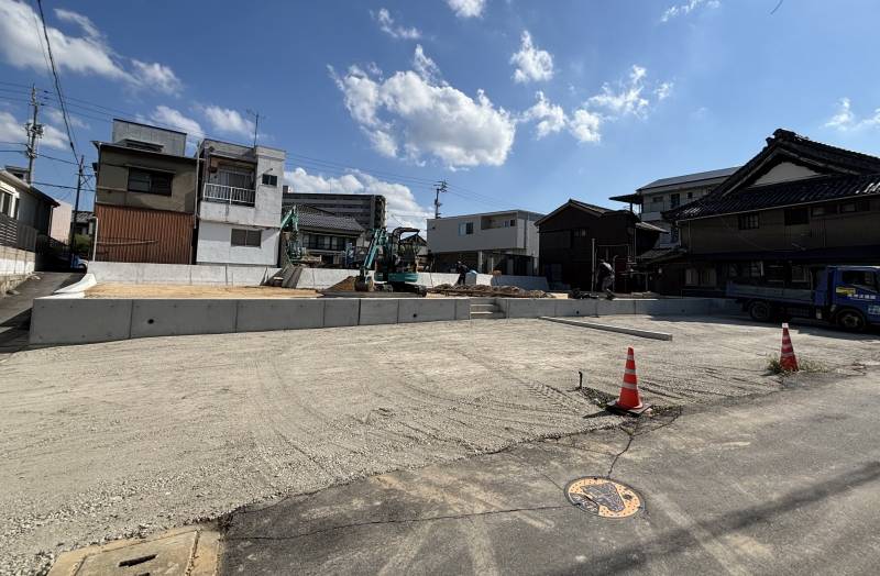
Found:
[{"label": "cracked grey asphalt road around the orange-patterned manhole cover", "polygon": [[[877,364],[248,507],[226,519],[221,573],[876,574]],[[641,509],[573,506],[584,476]]]}]

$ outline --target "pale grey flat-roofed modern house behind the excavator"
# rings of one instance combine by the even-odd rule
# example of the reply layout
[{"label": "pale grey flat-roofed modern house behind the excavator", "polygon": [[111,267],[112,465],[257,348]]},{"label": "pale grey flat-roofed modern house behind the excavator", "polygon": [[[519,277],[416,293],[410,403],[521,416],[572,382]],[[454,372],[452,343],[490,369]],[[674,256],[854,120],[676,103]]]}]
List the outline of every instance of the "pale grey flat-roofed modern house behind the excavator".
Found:
[{"label": "pale grey flat-roofed modern house behind the excavator", "polygon": [[428,219],[428,251],[433,269],[452,269],[457,262],[482,274],[538,274],[538,229],[543,214],[526,210]]}]

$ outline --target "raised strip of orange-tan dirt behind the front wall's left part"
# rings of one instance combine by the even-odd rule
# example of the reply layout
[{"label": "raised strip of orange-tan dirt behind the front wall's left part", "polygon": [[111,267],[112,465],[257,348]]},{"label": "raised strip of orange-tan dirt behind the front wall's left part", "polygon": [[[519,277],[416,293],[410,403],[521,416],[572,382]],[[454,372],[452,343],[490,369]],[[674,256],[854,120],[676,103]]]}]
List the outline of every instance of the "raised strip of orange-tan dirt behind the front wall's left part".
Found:
[{"label": "raised strip of orange-tan dirt behind the front wall's left part", "polygon": [[86,298],[315,298],[316,290],[272,286],[188,286],[174,284],[99,284]]}]

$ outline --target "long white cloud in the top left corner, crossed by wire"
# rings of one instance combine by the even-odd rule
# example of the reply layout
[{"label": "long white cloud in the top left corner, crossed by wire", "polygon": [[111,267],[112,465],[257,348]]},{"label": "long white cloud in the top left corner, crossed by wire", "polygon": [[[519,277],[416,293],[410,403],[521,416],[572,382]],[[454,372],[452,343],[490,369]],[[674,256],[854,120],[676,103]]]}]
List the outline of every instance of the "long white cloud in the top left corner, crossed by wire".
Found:
[{"label": "long white cloud in the top left corner, crossed by wire", "polygon": [[[162,64],[131,60],[118,55],[91,20],[72,10],[56,9],[55,16],[76,29],[67,34],[47,26],[55,63],[62,71],[102,76],[125,82],[130,88],[176,93],[179,80],[170,68]],[[0,0],[0,56],[16,68],[31,68],[46,73],[42,24],[34,10],[25,2]],[[160,80],[160,81],[157,81]]]}]

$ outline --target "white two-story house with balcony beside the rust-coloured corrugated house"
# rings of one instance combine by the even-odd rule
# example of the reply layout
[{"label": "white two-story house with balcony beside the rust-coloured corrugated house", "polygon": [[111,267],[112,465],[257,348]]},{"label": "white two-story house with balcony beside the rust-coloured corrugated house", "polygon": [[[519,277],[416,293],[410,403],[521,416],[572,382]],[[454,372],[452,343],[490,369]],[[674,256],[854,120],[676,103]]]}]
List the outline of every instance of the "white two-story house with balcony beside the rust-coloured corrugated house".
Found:
[{"label": "white two-story house with balcony beside the rust-coloured corrugated house", "polygon": [[206,139],[198,158],[196,262],[276,266],[286,153]]}]

